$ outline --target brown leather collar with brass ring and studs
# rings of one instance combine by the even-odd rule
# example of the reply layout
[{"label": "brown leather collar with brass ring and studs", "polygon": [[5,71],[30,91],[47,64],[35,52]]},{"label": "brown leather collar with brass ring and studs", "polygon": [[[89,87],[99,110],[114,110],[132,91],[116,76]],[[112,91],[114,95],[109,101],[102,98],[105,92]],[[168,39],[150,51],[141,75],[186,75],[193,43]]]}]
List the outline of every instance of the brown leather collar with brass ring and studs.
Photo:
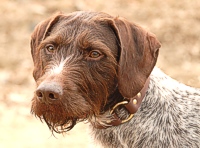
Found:
[{"label": "brown leather collar with brass ring and studs", "polygon": [[[150,79],[148,78],[144,87],[136,96],[134,96],[133,98],[125,98],[124,101],[117,103],[110,110],[110,114],[113,116],[113,120],[111,122],[106,122],[106,124],[103,124],[103,125],[97,124],[97,125],[94,125],[94,127],[103,129],[103,128],[108,128],[111,126],[118,126],[132,119],[133,115],[138,111],[143,98],[145,97],[149,83],[150,83]],[[127,119],[122,120],[120,119],[120,117],[118,117],[117,113],[115,112],[115,109],[118,108],[119,106],[124,106],[129,112],[130,115]]]}]

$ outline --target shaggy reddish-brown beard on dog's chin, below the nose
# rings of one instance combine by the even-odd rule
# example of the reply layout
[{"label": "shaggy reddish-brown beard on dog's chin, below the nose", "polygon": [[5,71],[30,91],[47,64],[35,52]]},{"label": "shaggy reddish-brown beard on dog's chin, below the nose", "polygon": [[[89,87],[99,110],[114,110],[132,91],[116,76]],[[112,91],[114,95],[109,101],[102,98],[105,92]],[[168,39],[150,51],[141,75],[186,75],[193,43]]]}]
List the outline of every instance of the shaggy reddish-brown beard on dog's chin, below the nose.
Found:
[{"label": "shaggy reddish-brown beard on dog's chin, below the nose", "polygon": [[42,122],[45,121],[52,132],[63,133],[71,130],[78,122],[85,121],[92,116],[89,111],[79,111],[76,114],[67,109],[62,102],[45,104],[39,101],[32,103],[31,113]]}]

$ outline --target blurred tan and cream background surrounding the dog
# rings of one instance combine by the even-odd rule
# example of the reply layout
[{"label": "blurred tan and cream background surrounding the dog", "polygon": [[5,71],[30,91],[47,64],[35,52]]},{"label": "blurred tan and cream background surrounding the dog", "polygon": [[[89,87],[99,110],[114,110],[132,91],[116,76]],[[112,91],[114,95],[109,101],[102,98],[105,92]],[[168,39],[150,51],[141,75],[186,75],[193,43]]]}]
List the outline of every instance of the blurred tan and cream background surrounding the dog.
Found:
[{"label": "blurred tan and cream background surrounding the dog", "polygon": [[157,66],[187,85],[200,87],[199,0],[1,0],[0,148],[87,148],[84,123],[52,136],[30,114],[35,89],[30,35],[37,23],[57,11],[104,11],[156,34],[162,43]]}]

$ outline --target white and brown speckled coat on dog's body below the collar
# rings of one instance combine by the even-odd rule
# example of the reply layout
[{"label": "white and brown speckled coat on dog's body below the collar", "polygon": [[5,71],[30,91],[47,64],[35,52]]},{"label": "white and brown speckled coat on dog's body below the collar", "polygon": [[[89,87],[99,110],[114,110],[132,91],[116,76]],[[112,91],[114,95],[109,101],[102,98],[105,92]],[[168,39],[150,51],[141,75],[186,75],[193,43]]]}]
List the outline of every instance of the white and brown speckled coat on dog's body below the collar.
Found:
[{"label": "white and brown speckled coat on dog's body below the collar", "polygon": [[199,148],[200,90],[154,68],[142,105],[129,122],[91,128],[94,143],[106,148]]}]

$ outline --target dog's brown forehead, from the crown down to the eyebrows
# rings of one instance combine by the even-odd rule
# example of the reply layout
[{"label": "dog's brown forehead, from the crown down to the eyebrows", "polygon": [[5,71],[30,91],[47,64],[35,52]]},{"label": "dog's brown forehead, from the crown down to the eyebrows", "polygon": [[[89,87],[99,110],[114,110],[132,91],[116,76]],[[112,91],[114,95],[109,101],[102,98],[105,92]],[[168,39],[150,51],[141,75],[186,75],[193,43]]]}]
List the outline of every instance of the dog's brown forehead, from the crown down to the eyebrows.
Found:
[{"label": "dog's brown forehead, from the crown down to the eyebrows", "polygon": [[[77,12],[64,15],[52,28],[53,36],[64,42],[84,44],[102,42],[108,48],[116,48],[116,36],[106,22],[104,13]],[[61,37],[61,38],[60,38]],[[63,42],[61,41],[61,42]]]}]

